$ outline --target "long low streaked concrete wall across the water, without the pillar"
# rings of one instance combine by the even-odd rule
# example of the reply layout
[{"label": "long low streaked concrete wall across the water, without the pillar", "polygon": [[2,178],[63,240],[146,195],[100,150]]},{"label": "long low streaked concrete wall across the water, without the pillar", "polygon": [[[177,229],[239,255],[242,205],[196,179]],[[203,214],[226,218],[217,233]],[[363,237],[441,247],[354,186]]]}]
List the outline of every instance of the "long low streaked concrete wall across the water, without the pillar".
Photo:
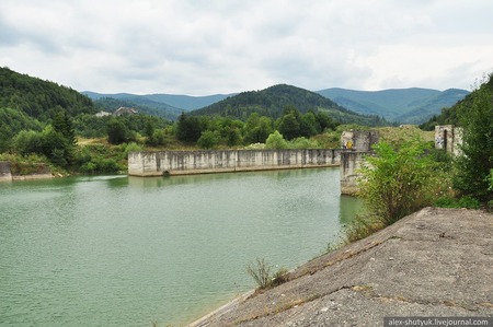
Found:
[{"label": "long low streaked concrete wall across the water, without the pillar", "polygon": [[339,149],[130,152],[128,175],[186,175],[328,167],[340,164]]}]

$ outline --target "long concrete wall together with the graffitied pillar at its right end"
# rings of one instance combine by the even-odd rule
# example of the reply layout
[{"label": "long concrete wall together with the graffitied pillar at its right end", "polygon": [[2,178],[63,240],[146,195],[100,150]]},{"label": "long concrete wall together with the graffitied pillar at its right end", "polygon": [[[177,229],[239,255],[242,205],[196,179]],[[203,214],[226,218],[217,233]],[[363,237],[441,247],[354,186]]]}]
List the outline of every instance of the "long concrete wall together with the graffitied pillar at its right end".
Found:
[{"label": "long concrete wall together with the graffitied pillar at its right end", "polygon": [[365,163],[365,157],[372,155],[371,145],[378,139],[376,131],[351,130],[344,131],[341,137],[342,149],[130,152],[128,175],[163,176],[341,166],[341,194],[354,195],[358,190],[358,170]]}]

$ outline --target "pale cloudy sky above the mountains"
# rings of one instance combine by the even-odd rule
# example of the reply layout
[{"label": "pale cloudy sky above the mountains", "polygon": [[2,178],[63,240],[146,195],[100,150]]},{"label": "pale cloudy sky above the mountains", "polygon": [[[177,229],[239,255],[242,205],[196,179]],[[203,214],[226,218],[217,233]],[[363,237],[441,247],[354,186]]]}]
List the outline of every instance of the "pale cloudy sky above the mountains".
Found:
[{"label": "pale cloudy sky above the mountains", "polygon": [[1,0],[0,67],[99,93],[471,90],[490,0]]}]

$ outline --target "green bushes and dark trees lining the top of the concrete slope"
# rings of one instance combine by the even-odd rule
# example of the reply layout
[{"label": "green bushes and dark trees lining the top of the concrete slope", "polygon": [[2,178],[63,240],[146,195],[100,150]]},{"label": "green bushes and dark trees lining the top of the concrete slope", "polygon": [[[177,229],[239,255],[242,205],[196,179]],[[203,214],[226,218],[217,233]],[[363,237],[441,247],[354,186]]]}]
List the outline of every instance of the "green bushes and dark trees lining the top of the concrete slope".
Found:
[{"label": "green bushes and dark trees lining the top of the concrete slope", "polygon": [[[452,115],[450,113],[454,113]],[[434,121],[463,128],[461,154],[431,148],[416,133],[387,137],[360,173],[365,212],[345,226],[333,250],[364,238],[426,206],[493,211],[493,78],[490,75]],[[450,120],[454,117],[452,120]],[[426,126],[426,124],[425,124]]]}]

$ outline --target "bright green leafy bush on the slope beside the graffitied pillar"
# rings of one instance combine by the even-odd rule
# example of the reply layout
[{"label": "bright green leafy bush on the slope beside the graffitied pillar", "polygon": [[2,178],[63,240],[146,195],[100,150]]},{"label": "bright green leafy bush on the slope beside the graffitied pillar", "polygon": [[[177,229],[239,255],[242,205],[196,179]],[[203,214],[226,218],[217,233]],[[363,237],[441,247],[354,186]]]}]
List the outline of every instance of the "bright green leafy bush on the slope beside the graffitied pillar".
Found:
[{"label": "bright green leafy bush on the slope beside the graffitied pillar", "polygon": [[360,170],[358,196],[365,213],[345,226],[343,243],[351,243],[433,203],[450,182],[429,155],[431,144],[419,138],[399,144],[379,142]]}]

